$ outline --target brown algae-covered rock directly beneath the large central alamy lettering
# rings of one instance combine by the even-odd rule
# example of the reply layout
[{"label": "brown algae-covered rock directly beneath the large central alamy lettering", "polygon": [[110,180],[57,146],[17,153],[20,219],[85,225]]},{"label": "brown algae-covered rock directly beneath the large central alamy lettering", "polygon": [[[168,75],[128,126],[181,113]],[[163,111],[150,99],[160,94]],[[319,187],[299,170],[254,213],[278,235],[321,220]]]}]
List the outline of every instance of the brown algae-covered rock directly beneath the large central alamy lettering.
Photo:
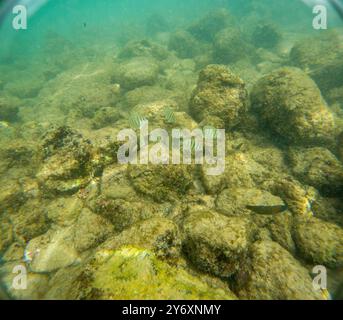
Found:
[{"label": "brown algae-covered rock directly beneath the large central alamy lettering", "polygon": [[193,183],[187,165],[130,165],[128,176],[137,192],[157,202],[182,198]]}]

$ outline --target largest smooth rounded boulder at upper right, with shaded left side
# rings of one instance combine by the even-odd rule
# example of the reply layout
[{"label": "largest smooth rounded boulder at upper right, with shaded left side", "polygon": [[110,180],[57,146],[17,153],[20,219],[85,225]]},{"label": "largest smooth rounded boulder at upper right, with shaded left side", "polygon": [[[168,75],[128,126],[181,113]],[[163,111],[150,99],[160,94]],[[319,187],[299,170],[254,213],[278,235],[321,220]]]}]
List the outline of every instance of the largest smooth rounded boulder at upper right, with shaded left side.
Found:
[{"label": "largest smooth rounded boulder at upper right, with shaded left side", "polygon": [[325,144],[335,135],[333,114],[303,71],[282,68],[263,77],[251,94],[262,123],[293,144]]}]

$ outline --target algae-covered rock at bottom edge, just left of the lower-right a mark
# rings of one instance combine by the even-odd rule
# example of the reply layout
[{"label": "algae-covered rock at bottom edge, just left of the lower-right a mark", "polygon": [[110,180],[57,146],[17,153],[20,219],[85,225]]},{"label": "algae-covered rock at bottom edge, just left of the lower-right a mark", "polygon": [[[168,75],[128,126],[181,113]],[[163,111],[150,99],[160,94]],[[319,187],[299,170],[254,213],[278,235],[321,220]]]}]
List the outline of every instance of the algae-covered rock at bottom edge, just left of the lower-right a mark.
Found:
[{"label": "algae-covered rock at bottom edge, just left of the lower-right a mark", "polygon": [[314,291],[307,269],[288,251],[272,241],[260,241],[252,246],[251,260],[240,270],[237,279],[243,286],[238,289],[241,299],[323,299],[321,292]]}]

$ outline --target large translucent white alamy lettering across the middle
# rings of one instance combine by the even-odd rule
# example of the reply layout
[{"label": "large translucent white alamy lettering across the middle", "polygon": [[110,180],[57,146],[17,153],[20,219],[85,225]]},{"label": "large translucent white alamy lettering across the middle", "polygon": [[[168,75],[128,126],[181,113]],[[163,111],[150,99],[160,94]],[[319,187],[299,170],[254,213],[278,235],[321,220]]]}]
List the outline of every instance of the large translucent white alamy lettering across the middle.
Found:
[{"label": "large translucent white alamy lettering across the middle", "polygon": [[206,174],[212,176],[225,171],[224,129],[173,129],[170,137],[165,129],[149,132],[149,121],[144,120],[139,135],[133,129],[124,129],[117,140],[125,142],[118,150],[119,164],[206,164]]}]

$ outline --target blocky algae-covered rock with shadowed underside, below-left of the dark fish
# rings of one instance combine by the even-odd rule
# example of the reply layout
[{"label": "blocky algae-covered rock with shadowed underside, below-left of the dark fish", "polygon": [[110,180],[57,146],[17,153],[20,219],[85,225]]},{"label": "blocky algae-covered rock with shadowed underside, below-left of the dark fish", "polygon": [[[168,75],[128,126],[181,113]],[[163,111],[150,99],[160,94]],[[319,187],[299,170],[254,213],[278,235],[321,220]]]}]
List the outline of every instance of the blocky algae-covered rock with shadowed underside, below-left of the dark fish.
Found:
[{"label": "blocky algae-covered rock with shadowed underside, below-left of the dark fish", "polygon": [[183,231],[184,252],[197,269],[227,278],[246,263],[253,234],[248,219],[215,212],[191,213]]}]

